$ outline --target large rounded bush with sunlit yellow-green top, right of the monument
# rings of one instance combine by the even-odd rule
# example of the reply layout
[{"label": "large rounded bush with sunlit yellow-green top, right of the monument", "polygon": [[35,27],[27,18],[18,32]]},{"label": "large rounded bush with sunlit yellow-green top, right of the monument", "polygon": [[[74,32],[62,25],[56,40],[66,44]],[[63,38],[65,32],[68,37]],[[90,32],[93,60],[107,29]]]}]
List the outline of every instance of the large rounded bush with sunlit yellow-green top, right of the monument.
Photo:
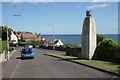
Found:
[{"label": "large rounded bush with sunlit yellow-green top, right of the monument", "polygon": [[118,62],[120,59],[120,47],[112,39],[103,39],[96,49],[96,59]]}]

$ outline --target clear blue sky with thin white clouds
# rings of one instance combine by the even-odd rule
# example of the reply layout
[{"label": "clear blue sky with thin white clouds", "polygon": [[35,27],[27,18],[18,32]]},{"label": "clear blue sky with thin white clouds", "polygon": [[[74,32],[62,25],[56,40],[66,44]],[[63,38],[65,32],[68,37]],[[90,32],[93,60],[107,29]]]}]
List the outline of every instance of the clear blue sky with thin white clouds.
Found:
[{"label": "clear blue sky with thin white clouds", "polygon": [[8,26],[15,31],[52,34],[48,24],[54,24],[55,34],[81,34],[87,10],[92,10],[97,34],[118,33],[117,2],[2,2],[2,25],[8,13]]}]

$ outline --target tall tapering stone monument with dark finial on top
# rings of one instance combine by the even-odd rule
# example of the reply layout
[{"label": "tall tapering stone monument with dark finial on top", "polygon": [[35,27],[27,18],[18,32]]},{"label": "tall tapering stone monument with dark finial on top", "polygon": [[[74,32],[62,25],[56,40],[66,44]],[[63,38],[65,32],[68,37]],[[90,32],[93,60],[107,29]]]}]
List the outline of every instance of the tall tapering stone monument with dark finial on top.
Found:
[{"label": "tall tapering stone monument with dark finial on top", "polygon": [[86,18],[82,30],[82,53],[81,58],[92,59],[96,49],[96,28],[94,18],[91,17],[91,11],[86,11]]}]

